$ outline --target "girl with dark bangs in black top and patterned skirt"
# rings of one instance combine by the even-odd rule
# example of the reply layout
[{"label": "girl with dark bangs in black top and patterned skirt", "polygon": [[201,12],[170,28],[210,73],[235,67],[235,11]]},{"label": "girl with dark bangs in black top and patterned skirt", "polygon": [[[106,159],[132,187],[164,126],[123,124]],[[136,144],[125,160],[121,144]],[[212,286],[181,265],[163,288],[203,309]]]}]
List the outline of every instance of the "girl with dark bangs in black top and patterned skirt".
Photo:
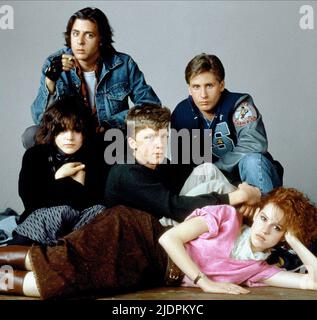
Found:
[{"label": "girl with dark bangs in black top and patterned skirt", "polygon": [[9,244],[52,244],[104,208],[104,164],[89,108],[73,96],[58,100],[44,113],[36,141],[23,157],[25,211]]}]

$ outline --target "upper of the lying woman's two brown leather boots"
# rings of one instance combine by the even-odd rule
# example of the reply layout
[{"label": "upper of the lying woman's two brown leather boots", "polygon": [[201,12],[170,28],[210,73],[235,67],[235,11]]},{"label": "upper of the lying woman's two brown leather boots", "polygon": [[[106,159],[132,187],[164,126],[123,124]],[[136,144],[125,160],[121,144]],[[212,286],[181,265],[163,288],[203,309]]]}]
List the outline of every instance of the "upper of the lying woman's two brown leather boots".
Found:
[{"label": "upper of the lying woman's two brown leather boots", "polygon": [[0,266],[9,265],[14,269],[25,270],[25,258],[29,250],[28,246],[0,247]]}]

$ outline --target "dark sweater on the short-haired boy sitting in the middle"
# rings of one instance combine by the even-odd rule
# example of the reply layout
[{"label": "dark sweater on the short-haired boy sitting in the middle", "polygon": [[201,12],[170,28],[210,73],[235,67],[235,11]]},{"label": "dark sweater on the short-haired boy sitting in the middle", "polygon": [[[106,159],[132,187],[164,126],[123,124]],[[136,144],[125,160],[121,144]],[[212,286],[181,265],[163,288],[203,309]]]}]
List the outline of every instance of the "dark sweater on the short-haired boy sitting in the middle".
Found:
[{"label": "dark sweater on the short-haired boy sitting in the middle", "polygon": [[177,166],[162,164],[155,170],[140,164],[116,164],[106,183],[107,207],[122,204],[183,221],[193,210],[207,205],[228,204],[228,195],[209,193],[195,197],[179,196]]}]

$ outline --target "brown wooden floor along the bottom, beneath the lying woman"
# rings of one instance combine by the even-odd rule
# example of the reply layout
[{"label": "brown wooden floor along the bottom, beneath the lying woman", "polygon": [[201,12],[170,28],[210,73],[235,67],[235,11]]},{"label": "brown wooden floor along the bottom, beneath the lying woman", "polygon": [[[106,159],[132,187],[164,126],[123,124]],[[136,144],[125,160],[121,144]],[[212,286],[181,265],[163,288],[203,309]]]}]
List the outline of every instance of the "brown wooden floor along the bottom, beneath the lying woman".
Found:
[{"label": "brown wooden floor along the bottom, beneath the lying woman", "polygon": [[[317,291],[251,288],[246,295],[204,293],[198,288],[155,288],[98,300],[317,300]],[[0,300],[38,300],[28,297],[0,295]]]}]

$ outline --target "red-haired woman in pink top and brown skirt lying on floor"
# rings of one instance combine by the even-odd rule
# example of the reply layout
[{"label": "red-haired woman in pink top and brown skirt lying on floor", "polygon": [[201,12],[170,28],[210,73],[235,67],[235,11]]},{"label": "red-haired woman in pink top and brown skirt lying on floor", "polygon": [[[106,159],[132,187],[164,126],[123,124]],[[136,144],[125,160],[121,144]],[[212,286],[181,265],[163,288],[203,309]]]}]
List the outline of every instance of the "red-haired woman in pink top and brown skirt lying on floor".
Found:
[{"label": "red-haired woman in pink top and brown skirt lying on floor", "polygon": [[[317,258],[306,248],[316,226],[316,207],[282,187],[257,204],[251,226],[229,205],[196,209],[167,231],[146,212],[116,206],[57,245],[0,248],[1,265],[14,270],[12,286],[2,293],[56,299],[164,285],[227,294],[246,294],[254,286],[317,290]],[[281,241],[296,251],[306,274],[265,261]]]}]

